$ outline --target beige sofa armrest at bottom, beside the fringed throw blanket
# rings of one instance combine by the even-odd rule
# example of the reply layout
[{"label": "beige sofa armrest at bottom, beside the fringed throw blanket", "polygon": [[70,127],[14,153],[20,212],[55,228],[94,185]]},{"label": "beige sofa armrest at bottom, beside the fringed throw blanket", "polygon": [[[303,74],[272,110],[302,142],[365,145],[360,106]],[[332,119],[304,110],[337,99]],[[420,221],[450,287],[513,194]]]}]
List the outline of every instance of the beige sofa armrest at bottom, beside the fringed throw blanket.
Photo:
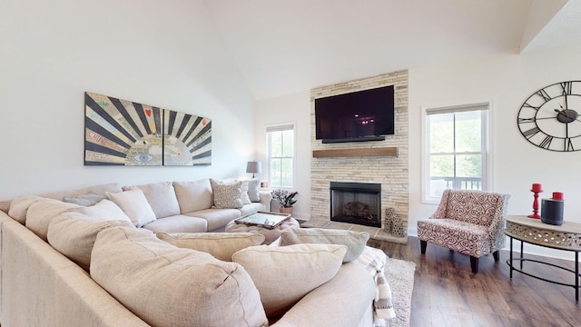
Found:
[{"label": "beige sofa armrest at bottom, beside the fringed throw blanket", "polygon": [[271,327],[370,325],[374,298],[371,274],[356,263],[343,263],[335,277],[305,295]]}]

